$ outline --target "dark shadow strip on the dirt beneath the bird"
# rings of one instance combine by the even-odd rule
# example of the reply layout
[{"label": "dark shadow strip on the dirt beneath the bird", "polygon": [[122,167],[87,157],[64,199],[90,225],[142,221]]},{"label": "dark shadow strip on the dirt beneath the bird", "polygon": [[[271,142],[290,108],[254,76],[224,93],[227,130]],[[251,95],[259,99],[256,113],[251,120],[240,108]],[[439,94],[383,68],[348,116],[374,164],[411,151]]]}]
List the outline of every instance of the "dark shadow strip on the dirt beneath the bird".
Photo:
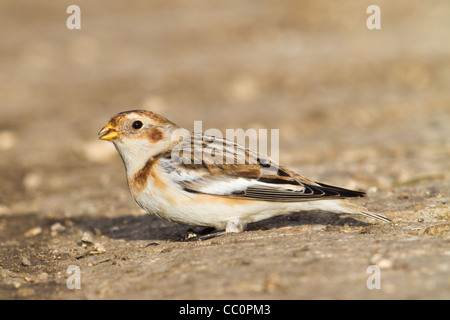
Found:
[{"label": "dark shadow strip on the dirt beneath the bird", "polygon": [[[149,214],[139,216],[130,214],[118,217],[93,217],[85,215],[71,218],[49,218],[30,213],[5,216],[0,222],[5,225],[4,230],[0,233],[0,242],[12,238],[20,238],[20,240],[25,242],[31,241],[35,238],[28,236],[27,231],[34,230],[36,227],[42,230],[42,232],[39,231],[41,240],[46,239],[46,234],[51,234],[52,228],[58,230],[63,227],[64,231],[57,231],[59,235],[78,235],[77,237],[79,237],[80,231],[89,231],[94,235],[103,235],[111,239],[146,240],[149,242],[181,241],[186,231],[192,228],[186,225],[168,222]],[[371,224],[354,219],[353,217],[341,217],[333,213],[302,212],[250,223],[247,230],[273,230],[286,226],[295,227],[302,225],[336,227],[349,225],[365,227]]]}]

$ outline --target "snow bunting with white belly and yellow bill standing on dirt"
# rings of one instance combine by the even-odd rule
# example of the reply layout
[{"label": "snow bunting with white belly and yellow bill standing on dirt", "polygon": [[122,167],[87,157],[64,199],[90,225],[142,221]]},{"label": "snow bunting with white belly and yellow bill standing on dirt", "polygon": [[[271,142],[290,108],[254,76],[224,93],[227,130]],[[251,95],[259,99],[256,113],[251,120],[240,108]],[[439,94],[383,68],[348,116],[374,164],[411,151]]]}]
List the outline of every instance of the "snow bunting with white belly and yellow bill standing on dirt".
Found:
[{"label": "snow bunting with white belly and yellow bill standing on dirt", "polygon": [[[115,115],[99,132],[99,139],[114,143],[132,196],[151,214],[224,233],[305,210],[390,221],[346,199],[363,192],[309,180],[229,140],[195,133],[180,139],[175,133],[181,129],[154,112],[132,110]],[[211,143],[221,149],[223,159],[234,161],[217,161],[205,152]],[[244,163],[237,161],[236,150],[243,151]]]}]

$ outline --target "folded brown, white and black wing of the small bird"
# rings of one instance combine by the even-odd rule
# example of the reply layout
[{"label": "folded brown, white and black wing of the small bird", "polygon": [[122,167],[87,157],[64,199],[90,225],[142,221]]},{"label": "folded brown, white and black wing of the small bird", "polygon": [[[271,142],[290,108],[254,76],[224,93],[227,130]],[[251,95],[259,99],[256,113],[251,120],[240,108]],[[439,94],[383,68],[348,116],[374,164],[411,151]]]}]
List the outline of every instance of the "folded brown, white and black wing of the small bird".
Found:
[{"label": "folded brown, white and black wing of the small bird", "polygon": [[191,135],[160,164],[172,182],[191,193],[282,202],[364,196],[309,180],[267,156],[211,136]]}]

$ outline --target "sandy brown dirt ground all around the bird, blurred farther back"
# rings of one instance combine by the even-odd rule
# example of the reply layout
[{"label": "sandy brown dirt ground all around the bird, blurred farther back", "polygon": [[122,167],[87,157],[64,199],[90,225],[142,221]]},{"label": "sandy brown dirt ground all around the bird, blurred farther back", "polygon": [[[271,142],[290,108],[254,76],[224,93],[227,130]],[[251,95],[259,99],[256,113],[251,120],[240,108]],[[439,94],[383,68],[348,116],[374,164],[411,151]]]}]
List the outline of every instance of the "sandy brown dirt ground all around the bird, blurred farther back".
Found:
[{"label": "sandy brown dirt ground all around the bird, blurred farther back", "polygon": [[[0,298],[449,299],[450,3],[377,1],[380,30],[371,4],[0,1]],[[393,223],[295,213],[180,242],[97,140],[135,108],[279,129],[282,163]]]}]

